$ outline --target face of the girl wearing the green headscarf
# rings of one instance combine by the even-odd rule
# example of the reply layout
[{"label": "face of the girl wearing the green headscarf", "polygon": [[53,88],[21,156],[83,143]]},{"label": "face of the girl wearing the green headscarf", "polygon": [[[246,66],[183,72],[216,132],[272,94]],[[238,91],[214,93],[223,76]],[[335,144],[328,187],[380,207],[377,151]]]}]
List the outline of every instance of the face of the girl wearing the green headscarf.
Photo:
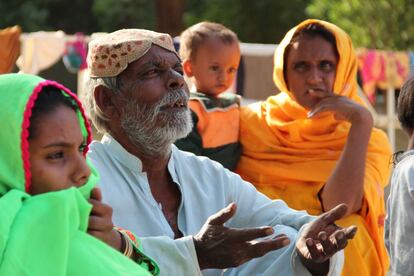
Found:
[{"label": "face of the girl wearing the green headscarf", "polygon": [[90,168],[86,146],[74,110],[66,106],[36,120],[35,137],[29,141],[31,194],[58,191],[86,183]]}]

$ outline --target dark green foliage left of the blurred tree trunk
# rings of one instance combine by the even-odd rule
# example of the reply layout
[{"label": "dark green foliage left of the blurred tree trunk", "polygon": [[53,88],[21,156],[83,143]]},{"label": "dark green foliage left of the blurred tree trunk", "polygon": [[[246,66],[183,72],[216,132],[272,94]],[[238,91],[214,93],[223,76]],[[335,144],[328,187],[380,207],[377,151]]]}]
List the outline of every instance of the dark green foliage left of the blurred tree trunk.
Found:
[{"label": "dark green foliage left of the blurred tree trunk", "polygon": [[0,29],[20,25],[24,32],[110,32],[154,29],[152,0],[0,0]]}]

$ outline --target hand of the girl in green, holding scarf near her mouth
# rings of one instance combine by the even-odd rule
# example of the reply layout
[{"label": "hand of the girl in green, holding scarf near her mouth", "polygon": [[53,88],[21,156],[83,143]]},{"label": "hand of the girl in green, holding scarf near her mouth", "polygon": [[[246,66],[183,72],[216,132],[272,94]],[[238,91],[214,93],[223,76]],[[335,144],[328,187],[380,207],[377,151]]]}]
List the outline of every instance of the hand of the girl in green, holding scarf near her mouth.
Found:
[{"label": "hand of the girl in green, holding scarf near her mouth", "polygon": [[102,193],[99,188],[92,190],[89,203],[93,207],[89,216],[88,233],[116,250],[121,251],[122,237],[114,229],[112,223],[112,208],[102,202]]}]

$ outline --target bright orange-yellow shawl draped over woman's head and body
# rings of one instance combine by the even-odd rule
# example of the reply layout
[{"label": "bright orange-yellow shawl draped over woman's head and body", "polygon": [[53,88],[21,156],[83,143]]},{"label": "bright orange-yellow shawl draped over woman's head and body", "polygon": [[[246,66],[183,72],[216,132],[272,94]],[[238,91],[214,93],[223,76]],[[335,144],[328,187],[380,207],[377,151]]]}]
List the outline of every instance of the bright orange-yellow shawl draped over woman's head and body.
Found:
[{"label": "bright orange-yellow shawl draped over woman's head and body", "polygon": [[[283,54],[294,33],[319,23],[336,39],[339,63],[334,91],[362,104],[357,95],[357,60],[349,36],[337,26],[306,20],[290,30],[275,52],[274,81],[281,93],[241,110],[243,154],[237,172],[270,198],[281,198],[292,208],[322,212],[318,192],[332,173],[345,146],[350,124],[328,114],[307,119],[308,110],[291,98],[283,76]],[[340,94],[340,93],[337,93]],[[358,226],[345,250],[343,275],[385,275],[388,257],[383,241],[383,189],[388,183],[391,150],[386,135],[373,129],[368,145],[364,202],[358,214],[341,225]]]}]

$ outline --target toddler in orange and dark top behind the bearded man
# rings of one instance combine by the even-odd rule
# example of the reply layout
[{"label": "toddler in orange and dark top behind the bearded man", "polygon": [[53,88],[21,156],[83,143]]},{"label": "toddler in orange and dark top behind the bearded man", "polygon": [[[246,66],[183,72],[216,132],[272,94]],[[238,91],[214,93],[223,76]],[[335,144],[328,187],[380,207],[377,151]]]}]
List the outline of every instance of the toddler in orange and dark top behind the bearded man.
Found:
[{"label": "toddler in orange and dark top behind the bearded man", "polygon": [[175,144],[234,170],[241,154],[240,99],[223,92],[232,85],[240,63],[237,35],[221,24],[198,23],[181,34],[180,56],[185,75],[195,85],[189,101],[194,127]]}]

